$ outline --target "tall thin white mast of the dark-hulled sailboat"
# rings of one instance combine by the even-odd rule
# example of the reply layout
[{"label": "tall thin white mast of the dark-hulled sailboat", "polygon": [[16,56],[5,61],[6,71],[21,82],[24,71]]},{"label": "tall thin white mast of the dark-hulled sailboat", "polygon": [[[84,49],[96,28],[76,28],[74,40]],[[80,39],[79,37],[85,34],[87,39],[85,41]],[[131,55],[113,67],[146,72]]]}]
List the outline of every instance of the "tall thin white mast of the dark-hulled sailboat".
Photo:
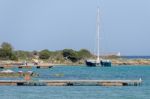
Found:
[{"label": "tall thin white mast of the dark-hulled sailboat", "polygon": [[99,46],[99,44],[100,44],[100,35],[99,35],[99,32],[100,32],[100,12],[99,12],[99,7],[98,7],[98,10],[97,10],[97,62],[99,62],[100,61],[100,58],[99,58],[99,56],[100,56],[100,46]]}]

